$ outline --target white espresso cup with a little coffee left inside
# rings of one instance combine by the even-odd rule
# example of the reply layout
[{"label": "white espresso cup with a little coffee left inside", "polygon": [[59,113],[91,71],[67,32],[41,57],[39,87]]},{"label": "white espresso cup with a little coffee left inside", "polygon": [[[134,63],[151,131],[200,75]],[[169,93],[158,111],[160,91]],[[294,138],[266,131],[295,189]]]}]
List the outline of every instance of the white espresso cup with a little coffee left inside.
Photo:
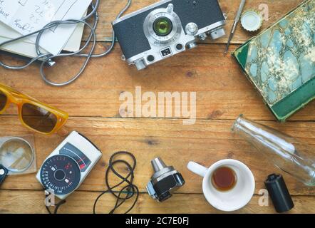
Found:
[{"label": "white espresso cup with a little coffee left inside", "polygon": [[[220,167],[229,167],[236,175],[235,186],[228,191],[220,191],[212,185],[212,175]],[[196,162],[189,162],[188,170],[203,177],[202,191],[207,201],[215,208],[224,212],[241,209],[252,199],[255,190],[255,180],[252,171],[244,163],[226,159],[215,162],[210,168],[203,167]]]}]

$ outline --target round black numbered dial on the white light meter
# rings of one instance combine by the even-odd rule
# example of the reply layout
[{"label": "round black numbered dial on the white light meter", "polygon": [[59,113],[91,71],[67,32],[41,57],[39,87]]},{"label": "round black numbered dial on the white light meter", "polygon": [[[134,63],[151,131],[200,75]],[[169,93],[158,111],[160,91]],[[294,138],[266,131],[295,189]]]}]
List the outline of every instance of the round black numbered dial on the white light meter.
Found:
[{"label": "round black numbered dial on the white light meter", "polygon": [[41,182],[46,190],[66,195],[76,190],[81,179],[78,163],[67,155],[48,158],[41,167]]}]

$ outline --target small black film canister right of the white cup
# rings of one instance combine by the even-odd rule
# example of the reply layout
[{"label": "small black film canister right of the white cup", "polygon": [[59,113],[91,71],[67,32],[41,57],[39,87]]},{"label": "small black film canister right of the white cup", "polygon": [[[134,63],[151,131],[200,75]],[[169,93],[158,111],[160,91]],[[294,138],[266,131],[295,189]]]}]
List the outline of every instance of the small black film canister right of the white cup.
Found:
[{"label": "small black film canister right of the white cup", "polygon": [[272,198],[274,208],[278,213],[288,212],[294,207],[294,203],[282,175],[269,175],[264,185],[266,185],[269,196]]}]

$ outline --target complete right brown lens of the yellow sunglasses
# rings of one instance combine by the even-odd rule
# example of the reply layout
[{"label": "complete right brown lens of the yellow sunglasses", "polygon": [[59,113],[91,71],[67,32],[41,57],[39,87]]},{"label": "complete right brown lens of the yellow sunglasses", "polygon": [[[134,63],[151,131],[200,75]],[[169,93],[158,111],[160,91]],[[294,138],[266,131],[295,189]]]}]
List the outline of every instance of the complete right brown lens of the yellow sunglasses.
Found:
[{"label": "complete right brown lens of the yellow sunglasses", "polygon": [[56,115],[29,103],[22,106],[22,118],[26,125],[41,133],[51,133],[57,124]]}]

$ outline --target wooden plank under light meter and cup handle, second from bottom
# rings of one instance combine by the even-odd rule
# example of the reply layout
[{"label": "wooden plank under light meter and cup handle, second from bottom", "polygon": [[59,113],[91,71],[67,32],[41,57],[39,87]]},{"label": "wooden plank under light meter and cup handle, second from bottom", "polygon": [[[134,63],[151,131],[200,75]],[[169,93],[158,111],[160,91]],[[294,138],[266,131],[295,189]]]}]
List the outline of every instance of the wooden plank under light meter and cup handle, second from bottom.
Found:
[{"label": "wooden plank under light meter and cup handle, second from bottom", "polygon": [[[1,116],[1,135],[24,135],[27,130],[19,124],[16,116]],[[315,123],[262,122],[284,133],[294,135],[304,142],[315,145]],[[195,125],[182,125],[181,120],[119,119],[119,118],[71,118],[68,130],[77,130],[90,138],[103,152],[103,157],[91,175],[83,182],[80,190],[100,191],[105,185],[105,169],[113,152],[127,150],[133,152],[138,160],[135,183],[141,191],[153,174],[150,160],[162,157],[168,165],[182,172],[186,185],[179,192],[201,193],[202,178],[187,170],[186,165],[194,160],[210,166],[217,160],[232,158],[241,160],[249,166],[256,179],[256,193],[264,188],[267,175],[279,172],[247,142],[230,132],[230,120],[199,120]],[[35,135],[38,168],[43,160],[63,140],[58,135],[50,138]],[[118,170],[126,173],[125,167]],[[314,187],[305,187],[294,178],[284,175],[292,195],[315,195]],[[113,183],[115,184],[115,178]],[[35,175],[11,176],[6,179],[2,189],[41,190]]]}]

